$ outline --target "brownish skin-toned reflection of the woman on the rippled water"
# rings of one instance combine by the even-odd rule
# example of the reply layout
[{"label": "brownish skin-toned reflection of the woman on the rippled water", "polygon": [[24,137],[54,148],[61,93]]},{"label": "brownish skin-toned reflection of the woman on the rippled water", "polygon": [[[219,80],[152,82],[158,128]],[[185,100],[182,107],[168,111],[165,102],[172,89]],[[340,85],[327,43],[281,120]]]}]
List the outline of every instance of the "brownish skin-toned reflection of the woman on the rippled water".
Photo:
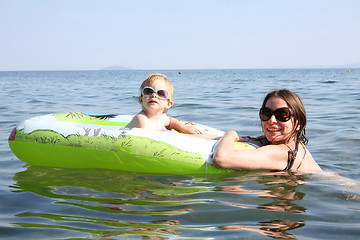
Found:
[{"label": "brownish skin-toned reflection of the woman on the rippled water", "polygon": [[[254,182],[261,183],[248,190]],[[306,183],[305,175],[294,175],[291,173],[269,173],[269,172],[249,172],[241,176],[234,176],[226,179],[226,186],[219,186],[218,191],[255,196],[256,202],[260,199],[271,200],[262,204],[249,204],[248,201],[242,203],[222,202],[225,205],[239,207],[242,209],[260,209],[265,211],[303,213],[306,211],[304,206],[299,205],[298,200],[305,197],[305,193],[297,190],[298,186]],[[239,198],[240,199],[240,198]],[[295,201],[297,203],[295,203]],[[278,215],[285,217],[285,215]],[[268,237],[279,239],[296,239],[297,237],[287,231],[305,226],[305,221],[288,220],[288,219],[271,219],[261,221],[257,225],[231,224],[220,226],[221,230],[229,231],[252,231]]]}]

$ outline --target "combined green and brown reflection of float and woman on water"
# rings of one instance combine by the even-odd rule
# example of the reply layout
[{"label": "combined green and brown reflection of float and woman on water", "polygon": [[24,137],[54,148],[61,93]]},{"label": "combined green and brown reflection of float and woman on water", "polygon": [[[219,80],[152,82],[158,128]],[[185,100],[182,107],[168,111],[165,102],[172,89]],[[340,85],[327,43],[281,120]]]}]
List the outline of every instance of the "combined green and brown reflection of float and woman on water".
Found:
[{"label": "combined green and brown reflection of float and woman on water", "polygon": [[19,210],[13,224],[41,231],[95,238],[200,239],[221,232],[294,239],[292,230],[309,221],[306,175],[167,176],[29,166],[14,180],[13,192],[30,193],[29,202],[41,204]]}]

